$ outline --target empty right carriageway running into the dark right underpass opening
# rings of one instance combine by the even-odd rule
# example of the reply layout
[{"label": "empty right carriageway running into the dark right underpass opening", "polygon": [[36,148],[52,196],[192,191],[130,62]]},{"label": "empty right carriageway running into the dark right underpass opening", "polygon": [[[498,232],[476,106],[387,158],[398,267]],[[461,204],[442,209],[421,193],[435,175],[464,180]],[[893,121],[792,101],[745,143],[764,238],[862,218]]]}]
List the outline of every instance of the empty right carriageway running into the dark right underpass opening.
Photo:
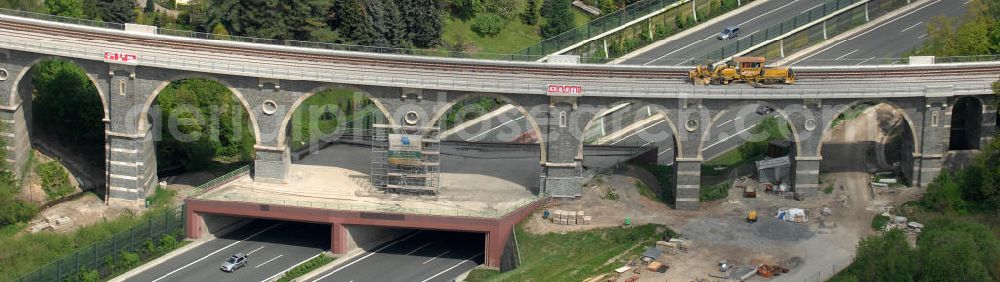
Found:
[{"label": "empty right carriageway running into the dark right underpass opening", "polygon": [[482,234],[420,231],[365,252],[312,281],[451,281],[483,262]]}]

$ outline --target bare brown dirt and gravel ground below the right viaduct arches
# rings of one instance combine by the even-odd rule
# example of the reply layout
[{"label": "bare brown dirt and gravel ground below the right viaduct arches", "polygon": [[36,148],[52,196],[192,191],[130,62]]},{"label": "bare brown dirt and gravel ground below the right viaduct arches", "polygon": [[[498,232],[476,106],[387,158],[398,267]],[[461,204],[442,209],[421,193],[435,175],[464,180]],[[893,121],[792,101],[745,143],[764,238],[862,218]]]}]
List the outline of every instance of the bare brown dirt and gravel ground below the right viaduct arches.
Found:
[{"label": "bare brown dirt and gravel ground below the right viaduct arches", "polygon": [[[792,199],[790,193],[762,190],[756,198],[744,198],[742,191],[730,189],[728,198],[703,203],[698,211],[678,211],[639,195],[635,178],[616,174],[596,177],[578,200],[548,207],[583,210],[593,217],[592,224],[557,225],[542,220],[539,212],[528,220],[526,228],[534,233],[579,231],[620,226],[628,216],[634,224],[665,224],[681,233],[686,251],[669,252],[660,259],[670,270],[666,274],[642,271],[639,281],[722,281],[710,276],[723,275],[718,269],[720,260],[736,266],[769,263],[790,268],[789,273],[771,279],[775,281],[822,281],[851,262],[861,238],[876,234],[870,227],[876,212],[886,205],[918,199],[923,193],[921,188],[869,188],[871,173],[884,169],[886,161],[884,154],[873,153],[876,150],[868,147],[879,147],[877,144],[887,139],[882,133],[886,125],[898,124],[899,116],[879,105],[836,126],[824,136],[824,146],[846,144],[851,149],[824,156],[821,191],[804,201]],[[602,199],[607,187],[614,187],[620,199]],[[833,189],[825,193],[822,190],[826,187]],[[824,207],[830,208],[830,215],[821,214]],[[780,221],[775,218],[779,208],[802,208],[808,222]],[[750,210],[758,212],[757,223],[745,221]],[[632,275],[626,273],[618,281]],[[749,279],[764,280],[759,276]]]}]

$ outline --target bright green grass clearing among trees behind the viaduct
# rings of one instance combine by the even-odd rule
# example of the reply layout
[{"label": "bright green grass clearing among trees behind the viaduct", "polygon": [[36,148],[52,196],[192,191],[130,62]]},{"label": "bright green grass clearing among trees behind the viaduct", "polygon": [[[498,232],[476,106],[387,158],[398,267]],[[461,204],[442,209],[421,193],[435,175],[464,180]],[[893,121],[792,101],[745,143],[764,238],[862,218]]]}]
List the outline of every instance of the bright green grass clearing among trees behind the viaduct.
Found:
[{"label": "bright green grass clearing among trees behind the viaduct", "polygon": [[[528,1],[522,1],[523,7],[518,8],[517,17],[507,20],[506,26],[494,36],[482,36],[472,31],[474,18],[463,20],[449,15],[444,20],[444,30],[441,40],[444,46],[466,45],[468,52],[485,54],[512,54],[544,40],[538,29],[545,24],[545,18],[539,17],[536,25],[525,24],[520,15],[527,7]],[[541,3],[542,1],[538,1]],[[590,16],[579,9],[570,9],[575,26],[584,25],[590,21]],[[470,46],[471,45],[471,46]],[[456,49],[454,47],[449,49]]]}]

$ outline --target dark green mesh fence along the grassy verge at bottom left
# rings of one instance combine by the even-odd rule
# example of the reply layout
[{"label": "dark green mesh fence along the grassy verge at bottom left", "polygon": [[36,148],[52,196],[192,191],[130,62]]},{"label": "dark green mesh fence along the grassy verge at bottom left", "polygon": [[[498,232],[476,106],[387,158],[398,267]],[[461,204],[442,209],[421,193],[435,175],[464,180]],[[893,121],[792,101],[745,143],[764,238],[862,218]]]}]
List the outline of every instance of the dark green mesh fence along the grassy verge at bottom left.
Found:
[{"label": "dark green mesh fence along the grassy verge at bottom left", "polygon": [[156,257],[164,235],[183,237],[184,206],[159,210],[126,231],[83,247],[21,277],[9,281],[79,281],[82,273],[111,277]]}]

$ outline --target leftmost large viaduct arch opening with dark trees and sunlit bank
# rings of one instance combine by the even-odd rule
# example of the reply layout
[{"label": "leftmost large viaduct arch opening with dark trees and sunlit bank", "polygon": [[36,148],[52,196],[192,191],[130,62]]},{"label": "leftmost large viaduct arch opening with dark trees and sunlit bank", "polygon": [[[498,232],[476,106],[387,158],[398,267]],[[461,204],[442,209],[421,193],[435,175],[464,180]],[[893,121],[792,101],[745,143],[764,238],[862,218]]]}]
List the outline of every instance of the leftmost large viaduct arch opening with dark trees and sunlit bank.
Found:
[{"label": "leftmost large viaduct arch opening with dark trees and sunlit bank", "polygon": [[[104,97],[92,77],[65,59],[39,60],[18,77],[11,98],[21,101],[13,144],[22,193],[36,203],[80,191],[105,194]],[[23,118],[23,122],[19,119]],[[24,126],[21,128],[20,126]]]}]

